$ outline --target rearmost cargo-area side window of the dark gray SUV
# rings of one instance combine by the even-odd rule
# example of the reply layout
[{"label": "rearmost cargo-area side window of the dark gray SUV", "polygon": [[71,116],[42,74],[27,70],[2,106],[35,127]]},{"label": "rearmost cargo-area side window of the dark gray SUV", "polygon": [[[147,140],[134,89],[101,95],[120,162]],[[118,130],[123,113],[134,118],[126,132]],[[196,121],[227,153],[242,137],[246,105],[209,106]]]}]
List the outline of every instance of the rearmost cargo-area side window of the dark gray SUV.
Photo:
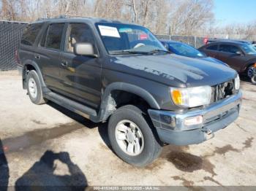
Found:
[{"label": "rearmost cargo-area side window of the dark gray SUV", "polygon": [[32,46],[37,39],[37,34],[39,34],[42,25],[43,23],[35,23],[27,26],[21,37],[21,44]]}]

